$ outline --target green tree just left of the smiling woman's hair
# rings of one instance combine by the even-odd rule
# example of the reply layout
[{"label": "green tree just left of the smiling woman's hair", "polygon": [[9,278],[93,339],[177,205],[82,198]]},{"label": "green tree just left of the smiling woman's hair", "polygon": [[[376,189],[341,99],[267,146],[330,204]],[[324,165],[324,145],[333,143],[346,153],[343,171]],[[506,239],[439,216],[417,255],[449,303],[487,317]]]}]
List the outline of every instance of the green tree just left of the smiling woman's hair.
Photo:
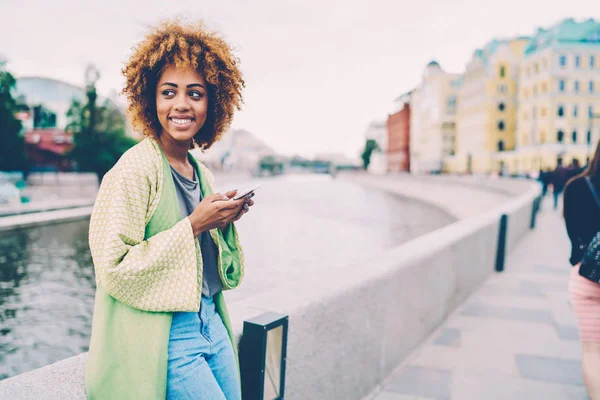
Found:
[{"label": "green tree just left of the smiling woman's hair", "polygon": [[94,83],[87,88],[85,104],[73,100],[67,120],[67,130],[74,134],[71,158],[79,171],[94,172],[98,180],[136,143],[125,133],[125,116],[112,102],[96,106]]}]

